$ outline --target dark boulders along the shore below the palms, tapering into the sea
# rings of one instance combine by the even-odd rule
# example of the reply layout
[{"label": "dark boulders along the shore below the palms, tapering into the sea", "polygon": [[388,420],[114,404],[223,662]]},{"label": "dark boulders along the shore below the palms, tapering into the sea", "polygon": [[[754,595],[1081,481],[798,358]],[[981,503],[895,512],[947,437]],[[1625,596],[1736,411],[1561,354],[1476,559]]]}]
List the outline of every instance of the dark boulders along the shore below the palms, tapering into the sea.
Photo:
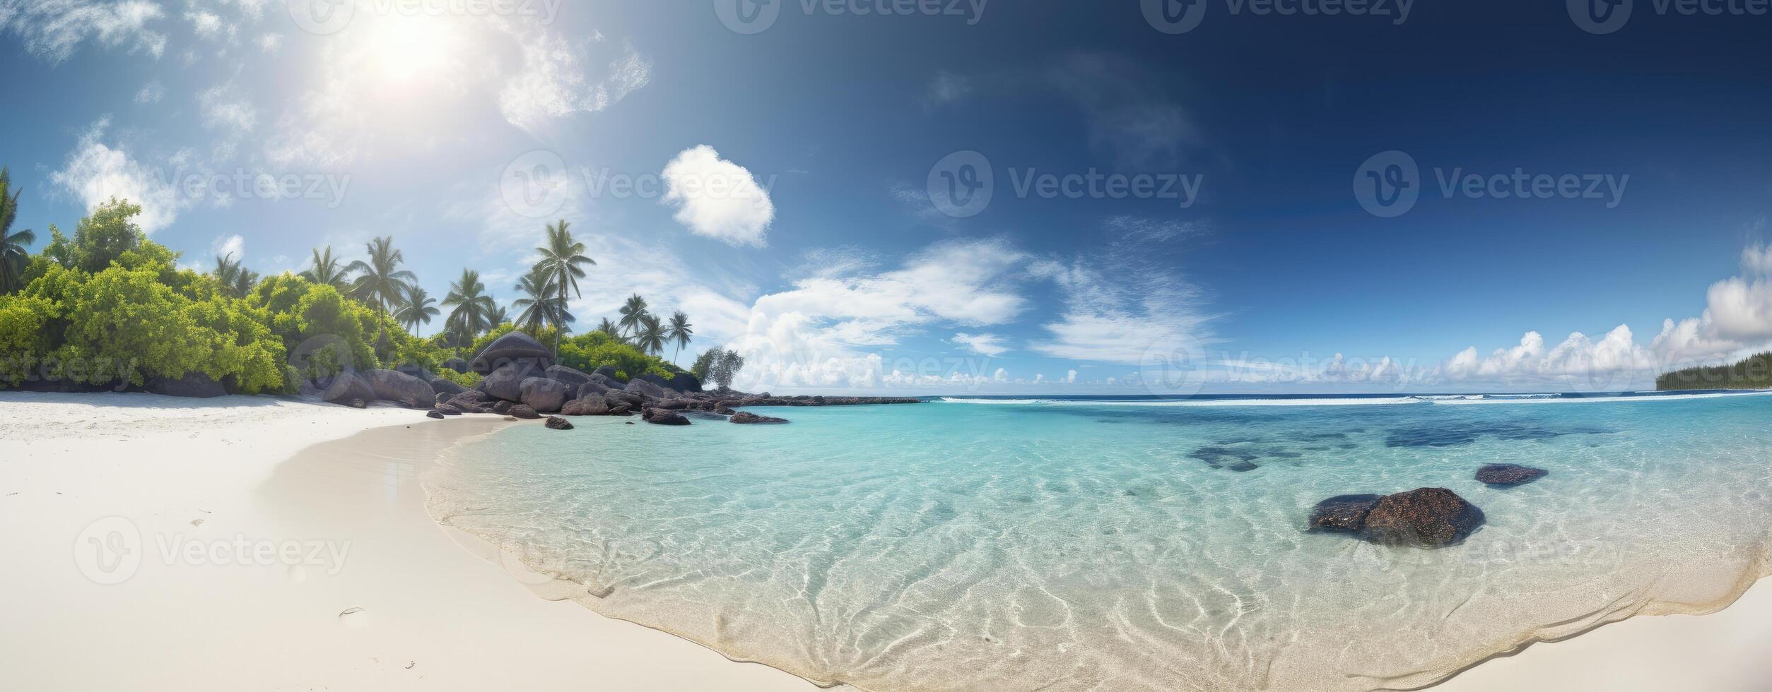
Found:
[{"label": "dark boulders along the shore below the palms, tapering into the sea", "polygon": [[[730,389],[702,391],[689,373],[672,379],[640,375],[627,381],[604,366],[585,373],[553,361],[553,352],[528,334],[509,333],[487,343],[466,366],[480,372],[473,389],[436,393],[434,414],[464,412],[507,414],[516,418],[560,416],[640,416],[654,425],[689,425],[684,412],[732,416],[732,423],[787,423],[781,418],[737,414],[746,405],[858,405],[916,404],[916,398],[884,396],[771,396]],[[562,419],[562,423],[565,423]]]}]

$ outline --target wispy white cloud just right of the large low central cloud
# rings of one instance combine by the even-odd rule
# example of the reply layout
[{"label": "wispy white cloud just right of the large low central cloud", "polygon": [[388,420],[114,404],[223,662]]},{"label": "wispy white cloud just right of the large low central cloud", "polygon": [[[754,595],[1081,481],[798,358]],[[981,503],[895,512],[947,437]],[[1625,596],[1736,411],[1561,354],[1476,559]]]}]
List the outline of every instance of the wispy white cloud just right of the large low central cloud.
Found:
[{"label": "wispy white cloud just right of the large low central cloud", "polygon": [[1212,342],[1198,287],[1161,260],[1152,248],[1191,235],[1189,225],[1109,219],[1116,234],[1102,253],[1072,262],[1037,262],[1035,276],[1053,280],[1065,296],[1058,320],[1035,352],[1093,363],[1141,363],[1201,358]]}]

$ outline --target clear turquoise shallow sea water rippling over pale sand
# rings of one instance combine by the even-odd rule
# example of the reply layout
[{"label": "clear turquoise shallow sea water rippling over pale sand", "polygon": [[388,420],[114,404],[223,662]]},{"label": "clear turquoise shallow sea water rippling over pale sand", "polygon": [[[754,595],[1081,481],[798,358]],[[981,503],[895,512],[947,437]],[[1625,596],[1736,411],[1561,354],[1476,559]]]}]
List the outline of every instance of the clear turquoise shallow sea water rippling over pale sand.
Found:
[{"label": "clear turquoise shallow sea water rippling over pale sand", "polygon": [[[1772,396],[1320,404],[581,418],[425,485],[599,612],[879,690],[1411,688],[1767,572]],[[1490,488],[1490,462],[1550,474]],[[1437,550],[1302,531],[1318,499],[1416,487],[1488,520]]]}]

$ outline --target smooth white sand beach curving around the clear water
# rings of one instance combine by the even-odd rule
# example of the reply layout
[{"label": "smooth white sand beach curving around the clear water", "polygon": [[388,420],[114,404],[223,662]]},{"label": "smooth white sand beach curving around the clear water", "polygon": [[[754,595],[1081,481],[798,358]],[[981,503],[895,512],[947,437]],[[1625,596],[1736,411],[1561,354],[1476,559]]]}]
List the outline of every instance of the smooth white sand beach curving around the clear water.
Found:
[{"label": "smooth white sand beach curving around the clear water", "polygon": [[[500,425],[0,393],[0,687],[813,690],[537,598],[438,527],[418,473]],[[1717,614],[1607,625],[1435,690],[1756,690],[1767,641],[1772,582]]]}]

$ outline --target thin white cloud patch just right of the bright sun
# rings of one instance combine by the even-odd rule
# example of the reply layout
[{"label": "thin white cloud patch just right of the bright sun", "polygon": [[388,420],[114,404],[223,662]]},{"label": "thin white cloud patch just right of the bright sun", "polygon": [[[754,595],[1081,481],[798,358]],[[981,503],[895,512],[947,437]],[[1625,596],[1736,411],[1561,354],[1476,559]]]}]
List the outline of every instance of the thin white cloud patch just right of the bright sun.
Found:
[{"label": "thin white cloud patch just right of the bright sun", "polygon": [[652,60],[624,44],[601,78],[587,64],[601,41],[572,42],[540,27],[512,28],[523,67],[503,78],[498,110],[523,129],[553,119],[606,110],[652,81]]}]

